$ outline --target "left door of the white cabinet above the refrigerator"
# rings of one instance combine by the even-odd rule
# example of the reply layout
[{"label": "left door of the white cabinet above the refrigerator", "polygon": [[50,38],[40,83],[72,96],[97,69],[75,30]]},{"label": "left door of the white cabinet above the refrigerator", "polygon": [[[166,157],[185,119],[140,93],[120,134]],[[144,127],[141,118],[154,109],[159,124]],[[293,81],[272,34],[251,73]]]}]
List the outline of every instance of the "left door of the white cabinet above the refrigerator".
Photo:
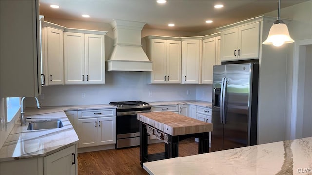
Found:
[{"label": "left door of the white cabinet above the refrigerator", "polygon": [[235,60],[238,48],[238,28],[221,32],[221,61]]}]

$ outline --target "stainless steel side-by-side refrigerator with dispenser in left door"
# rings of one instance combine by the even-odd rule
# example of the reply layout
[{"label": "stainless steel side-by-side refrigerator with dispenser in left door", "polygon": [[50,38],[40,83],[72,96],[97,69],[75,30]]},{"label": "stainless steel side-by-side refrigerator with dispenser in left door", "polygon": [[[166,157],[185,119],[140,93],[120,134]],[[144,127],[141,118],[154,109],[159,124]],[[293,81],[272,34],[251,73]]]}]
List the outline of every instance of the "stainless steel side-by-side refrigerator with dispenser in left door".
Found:
[{"label": "stainless steel side-by-side refrigerator with dispenser in left door", "polygon": [[255,145],[258,63],[214,66],[211,151]]}]

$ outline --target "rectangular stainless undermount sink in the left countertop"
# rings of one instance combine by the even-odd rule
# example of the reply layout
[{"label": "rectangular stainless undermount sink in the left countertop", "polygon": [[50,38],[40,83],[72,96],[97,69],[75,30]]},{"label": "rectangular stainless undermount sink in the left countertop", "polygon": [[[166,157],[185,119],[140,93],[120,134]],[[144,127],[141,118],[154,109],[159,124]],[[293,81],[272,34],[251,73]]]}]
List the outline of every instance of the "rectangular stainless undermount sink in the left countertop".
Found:
[{"label": "rectangular stainless undermount sink in the left countertop", "polygon": [[60,119],[51,119],[51,120],[37,120],[30,121],[27,127],[27,130],[38,130],[38,129],[55,129],[62,128],[63,123]]}]

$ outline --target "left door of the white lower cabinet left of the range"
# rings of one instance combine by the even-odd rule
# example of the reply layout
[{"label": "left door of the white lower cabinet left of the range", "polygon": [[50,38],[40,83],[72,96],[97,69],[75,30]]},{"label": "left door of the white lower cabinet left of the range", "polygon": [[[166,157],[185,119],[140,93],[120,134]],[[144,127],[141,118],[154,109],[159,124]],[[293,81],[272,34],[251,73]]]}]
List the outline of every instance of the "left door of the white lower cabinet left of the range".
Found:
[{"label": "left door of the white lower cabinet left of the range", "polygon": [[78,119],[78,147],[98,145],[98,118]]}]

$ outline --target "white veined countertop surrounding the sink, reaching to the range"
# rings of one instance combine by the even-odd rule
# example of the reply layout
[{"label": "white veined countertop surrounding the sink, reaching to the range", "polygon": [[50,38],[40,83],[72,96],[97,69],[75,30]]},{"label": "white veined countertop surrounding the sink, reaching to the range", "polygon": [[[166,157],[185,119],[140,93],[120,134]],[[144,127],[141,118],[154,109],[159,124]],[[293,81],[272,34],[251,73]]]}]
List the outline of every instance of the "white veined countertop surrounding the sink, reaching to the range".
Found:
[{"label": "white veined countertop surrounding the sink, reaching to the range", "polygon": [[[111,105],[75,105],[27,108],[26,125],[20,126],[20,119],[14,125],[1,148],[0,161],[11,161],[32,157],[43,157],[78,143],[79,138],[64,111],[116,108]],[[62,128],[28,131],[31,120],[61,119]]]}]

